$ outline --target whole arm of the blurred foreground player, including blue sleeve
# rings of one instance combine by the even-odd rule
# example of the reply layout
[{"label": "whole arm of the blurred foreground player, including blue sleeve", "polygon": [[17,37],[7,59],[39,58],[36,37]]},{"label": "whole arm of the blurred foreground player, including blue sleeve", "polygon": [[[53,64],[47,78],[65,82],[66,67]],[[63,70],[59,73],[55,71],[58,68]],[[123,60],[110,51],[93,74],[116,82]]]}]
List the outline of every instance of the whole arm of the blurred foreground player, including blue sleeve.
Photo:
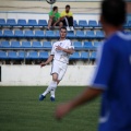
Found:
[{"label": "whole arm of the blurred foreground player, including blue sleeve", "polygon": [[109,87],[108,83],[112,76],[114,66],[116,66],[116,56],[117,52],[115,51],[114,44],[110,45],[110,43],[106,43],[102,46],[98,52],[98,64],[91,86],[88,86],[80,97],[59,106],[56,111],[58,119],[62,118],[72,109],[94,99]]}]

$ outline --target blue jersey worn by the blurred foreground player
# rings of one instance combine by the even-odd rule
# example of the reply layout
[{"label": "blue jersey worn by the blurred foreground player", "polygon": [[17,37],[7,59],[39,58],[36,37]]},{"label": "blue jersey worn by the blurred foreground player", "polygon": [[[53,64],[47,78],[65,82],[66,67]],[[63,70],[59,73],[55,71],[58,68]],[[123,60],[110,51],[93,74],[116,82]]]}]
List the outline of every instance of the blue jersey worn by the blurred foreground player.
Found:
[{"label": "blue jersey worn by the blurred foreground player", "polygon": [[103,88],[99,131],[131,131],[131,35],[117,32],[98,51],[92,85]]}]

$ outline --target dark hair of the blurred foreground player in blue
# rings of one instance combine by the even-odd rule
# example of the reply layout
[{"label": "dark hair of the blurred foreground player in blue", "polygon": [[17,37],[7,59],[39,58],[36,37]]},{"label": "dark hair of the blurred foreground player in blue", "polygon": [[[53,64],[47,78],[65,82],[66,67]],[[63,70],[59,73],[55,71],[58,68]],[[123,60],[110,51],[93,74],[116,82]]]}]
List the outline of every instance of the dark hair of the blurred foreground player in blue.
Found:
[{"label": "dark hair of the blurred foreground player in blue", "polygon": [[104,21],[114,26],[126,22],[126,2],[123,0],[104,0],[102,2],[102,16]]}]

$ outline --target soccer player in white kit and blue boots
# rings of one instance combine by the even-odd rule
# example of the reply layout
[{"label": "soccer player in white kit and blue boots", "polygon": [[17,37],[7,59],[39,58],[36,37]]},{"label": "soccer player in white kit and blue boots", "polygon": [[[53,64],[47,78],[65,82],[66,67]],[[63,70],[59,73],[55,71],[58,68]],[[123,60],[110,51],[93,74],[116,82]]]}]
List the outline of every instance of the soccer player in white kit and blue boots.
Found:
[{"label": "soccer player in white kit and blue boots", "polygon": [[41,67],[45,67],[52,61],[51,75],[52,81],[50,82],[47,90],[39,95],[39,100],[44,100],[46,95],[50,93],[50,100],[55,102],[55,91],[57,85],[62,80],[69,63],[69,57],[74,51],[74,47],[71,40],[66,39],[67,28],[60,28],[60,39],[56,41],[52,46],[51,53],[46,62],[40,63]]}]

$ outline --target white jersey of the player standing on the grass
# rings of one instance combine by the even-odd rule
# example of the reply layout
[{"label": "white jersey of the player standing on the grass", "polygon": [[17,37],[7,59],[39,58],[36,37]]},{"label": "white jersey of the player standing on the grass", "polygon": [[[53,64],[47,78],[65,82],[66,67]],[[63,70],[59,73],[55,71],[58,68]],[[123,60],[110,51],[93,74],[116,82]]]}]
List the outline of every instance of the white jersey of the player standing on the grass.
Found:
[{"label": "white jersey of the player standing on the grass", "polygon": [[56,41],[52,46],[52,49],[51,49],[51,55],[55,55],[55,57],[53,57],[55,60],[58,60],[58,61],[61,61],[61,62],[64,62],[64,63],[69,63],[70,55],[62,51],[62,50],[57,50],[56,49],[57,46],[60,46],[64,49],[71,49],[71,48],[74,49],[74,46],[72,45],[71,40],[64,39],[64,40]]}]

